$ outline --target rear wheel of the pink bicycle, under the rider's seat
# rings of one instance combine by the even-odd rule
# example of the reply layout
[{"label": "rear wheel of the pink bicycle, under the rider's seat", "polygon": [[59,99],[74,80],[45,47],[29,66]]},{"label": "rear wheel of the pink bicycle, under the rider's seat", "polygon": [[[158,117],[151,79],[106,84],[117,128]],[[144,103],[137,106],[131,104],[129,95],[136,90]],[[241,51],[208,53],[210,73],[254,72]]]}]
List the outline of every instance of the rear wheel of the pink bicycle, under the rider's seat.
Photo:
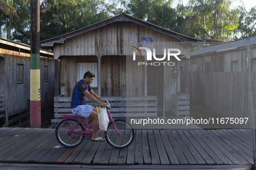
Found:
[{"label": "rear wheel of the pink bicycle, under the rider's seat", "polygon": [[[66,121],[62,120],[56,126],[56,129],[55,129],[56,139],[62,146],[65,146],[67,148],[75,148],[83,142],[84,136],[70,133],[70,131],[74,129],[75,126],[79,123],[77,120],[66,119]],[[78,132],[78,131],[84,131],[84,127],[81,124],[78,124],[78,126],[72,132]]]}]

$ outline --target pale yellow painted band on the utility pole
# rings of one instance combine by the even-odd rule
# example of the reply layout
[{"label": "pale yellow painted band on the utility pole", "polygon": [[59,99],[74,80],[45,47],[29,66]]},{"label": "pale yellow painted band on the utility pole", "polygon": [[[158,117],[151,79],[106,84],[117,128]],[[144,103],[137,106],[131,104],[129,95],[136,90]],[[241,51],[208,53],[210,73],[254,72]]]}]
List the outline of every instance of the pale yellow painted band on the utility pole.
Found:
[{"label": "pale yellow painted band on the utility pole", "polygon": [[40,100],[40,69],[30,69],[30,101]]}]

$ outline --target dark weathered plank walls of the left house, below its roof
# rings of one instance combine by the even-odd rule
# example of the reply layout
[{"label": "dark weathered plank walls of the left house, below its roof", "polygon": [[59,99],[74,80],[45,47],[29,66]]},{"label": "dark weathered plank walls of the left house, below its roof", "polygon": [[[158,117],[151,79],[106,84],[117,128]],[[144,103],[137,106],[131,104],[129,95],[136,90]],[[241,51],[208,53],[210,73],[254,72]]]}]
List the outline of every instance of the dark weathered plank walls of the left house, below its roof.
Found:
[{"label": "dark weathered plank walls of the left house, below its roof", "polygon": [[[4,75],[0,75],[0,92],[5,93],[5,107],[8,107],[8,114],[11,116],[28,109],[27,105],[30,99],[30,54],[0,48],[0,58],[2,57],[4,62],[3,60],[1,61],[1,70],[3,68],[5,70]],[[41,105],[53,101],[54,98],[53,63],[52,58],[40,56]],[[17,83],[17,64],[24,64],[24,83]],[[44,72],[42,71],[44,66],[48,66],[49,77],[47,82],[44,81]],[[3,79],[4,83],[2,82]],[[47,100],[45,99],[46,95]]]}]

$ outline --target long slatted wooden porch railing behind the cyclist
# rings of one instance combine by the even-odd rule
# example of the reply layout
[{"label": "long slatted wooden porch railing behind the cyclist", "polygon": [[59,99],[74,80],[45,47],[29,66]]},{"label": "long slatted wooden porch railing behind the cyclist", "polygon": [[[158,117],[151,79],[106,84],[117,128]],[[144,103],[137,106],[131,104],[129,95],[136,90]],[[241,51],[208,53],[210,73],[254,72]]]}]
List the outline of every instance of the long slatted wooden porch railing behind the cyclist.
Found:
[{"label": "long slatted wooden porch railing behind the cyclist", "polygon": [[[141,97],[101,97],[103,100],[110,101],[112,110],[110,114],[114,117],[126,116],[157,116],[157,96],[141,96]],[[54,98],[54,117],[52,122],[59,122],[62,114],[73,115],[71,113],[71,97],[55,97]],[[97,103],[86,99],[86,104],[93,107],[100,106]],[[127,115],[129,114],[129,115]]]}]

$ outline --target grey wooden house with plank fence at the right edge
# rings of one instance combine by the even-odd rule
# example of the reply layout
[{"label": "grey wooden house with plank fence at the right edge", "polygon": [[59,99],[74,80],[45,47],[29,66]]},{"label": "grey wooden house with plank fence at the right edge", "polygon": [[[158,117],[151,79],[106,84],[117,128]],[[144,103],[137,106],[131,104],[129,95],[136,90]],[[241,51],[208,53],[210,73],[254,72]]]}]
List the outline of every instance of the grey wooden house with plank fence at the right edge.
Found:
[{"label": "grey wooden house with plank fence at the right edge", "polygon": [[[246,39],[205,46],[183,58],[189,66],[181,72],[181,92],[185,91],[185,71],[188,71],[190,100],[195,100],[201,83],[204,102],[211,113],[222,117],[251,116]],[[256,93],[256,36],[250,37],[250,58],[253,93]],[[249,47],[249,46],[248,46]],[[188,69],[188,70],[186,70]],[[199,78],[199,79],[198,79]]]}]

